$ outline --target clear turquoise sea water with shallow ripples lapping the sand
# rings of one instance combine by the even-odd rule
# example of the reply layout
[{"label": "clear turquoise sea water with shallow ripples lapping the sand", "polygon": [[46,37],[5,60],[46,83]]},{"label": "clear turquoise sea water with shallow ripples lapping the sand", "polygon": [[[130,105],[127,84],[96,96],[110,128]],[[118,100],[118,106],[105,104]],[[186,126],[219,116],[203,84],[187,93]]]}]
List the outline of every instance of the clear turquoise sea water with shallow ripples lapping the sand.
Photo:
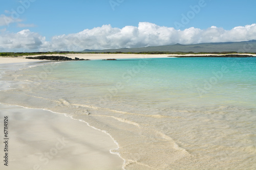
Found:
[{"label": "clear turquoise sea water with shallow ripples lapping the sand", "polygon": [[0,103],[63,113],[108,133],[123,169],[256,168],[256,58],[6,67]]}]

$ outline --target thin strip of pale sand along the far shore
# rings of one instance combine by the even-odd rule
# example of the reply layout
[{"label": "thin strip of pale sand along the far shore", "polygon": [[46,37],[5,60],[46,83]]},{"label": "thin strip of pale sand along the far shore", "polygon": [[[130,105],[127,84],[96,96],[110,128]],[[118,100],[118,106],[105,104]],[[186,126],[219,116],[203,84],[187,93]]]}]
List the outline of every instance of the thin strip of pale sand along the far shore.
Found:
[{"label": "thin strip of pale sand along the far shore", "polygon": [[[234,54],[234,55],[248,55],[248,54]],[[255,56],[256,54],[249,54]],[[50,61],[50,60],[37,60],[37,59],[26,59],[26,57],[37,57],[41,55],[31,55],[31,56],[19,56],[19,57],[0,57],[0,64],[7,63],[23,63],[23,62],[35,62],[35,61]],[[105,60],[105,59],[141,59],[141,58],[176,58],[176,57],[188,57],[188,56],[223,56],[223,54],[46,54],[44,56],[63,56],[72,59],[89,59],[89,60]]]}]

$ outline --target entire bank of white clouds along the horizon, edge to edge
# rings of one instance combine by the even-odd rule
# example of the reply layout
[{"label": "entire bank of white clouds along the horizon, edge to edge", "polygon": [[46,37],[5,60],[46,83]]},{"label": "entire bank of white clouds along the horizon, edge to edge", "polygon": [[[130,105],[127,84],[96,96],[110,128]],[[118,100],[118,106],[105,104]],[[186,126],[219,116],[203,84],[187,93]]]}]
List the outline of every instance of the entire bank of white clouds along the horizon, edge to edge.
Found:
[{"label": "entire bank of white clouds along the horizon, edge to edge", "polygon": [[30,30],[18,33],[3,31],[0,34],[0,51],[82,51],[252,39],[256,39],[256,23],[231,30],[212,26],[205,30],[191,27],[181,31],[150,22],[139,22],[138,27],[126,26],[119,29],[103,25],[75,34],[54,36],[51,41],[46,41],[46,37]]}]

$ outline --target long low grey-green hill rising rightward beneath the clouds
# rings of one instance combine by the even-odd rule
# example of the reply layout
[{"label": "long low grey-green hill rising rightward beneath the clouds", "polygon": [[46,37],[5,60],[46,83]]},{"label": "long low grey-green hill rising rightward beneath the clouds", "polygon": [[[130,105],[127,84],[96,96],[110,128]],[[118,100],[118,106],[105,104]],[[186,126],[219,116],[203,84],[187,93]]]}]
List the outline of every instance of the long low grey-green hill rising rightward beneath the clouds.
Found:
[{"label": "long low grey-green hill rising rightward beneath the clouds", "polygon": [[162,46],[147,46],[140,48],[119,48],[108,50],[84,50],[83,53],[141,53],[141,52],[193,52],[193,53],[213,53],[213,52],[238,52],[256,53],[256,40],[242,42],[219,42],[219,43],[199,43],[199,44],[174,44]]}]

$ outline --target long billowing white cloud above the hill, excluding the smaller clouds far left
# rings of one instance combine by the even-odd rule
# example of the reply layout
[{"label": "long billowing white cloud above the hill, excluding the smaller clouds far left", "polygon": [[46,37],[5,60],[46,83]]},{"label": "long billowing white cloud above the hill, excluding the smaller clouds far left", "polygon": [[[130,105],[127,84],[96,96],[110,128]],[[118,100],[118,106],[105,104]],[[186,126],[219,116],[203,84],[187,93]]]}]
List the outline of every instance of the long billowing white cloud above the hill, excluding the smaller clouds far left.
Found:
[{"label": "long billowing white cloud above the hill, excluding the smaller clouds far left", "polygon": [[204,42],[247,41],[256,39],[256,24],[224,30],[212,26],[206,30],[191,27],[184,31],[160,27],[150,22],[140,22],[138,27],[122,29],[104,25],[91,30],[52,38],[52,47],[58,50],[105,49],[169,45],[175,43],[194,44]]}]

